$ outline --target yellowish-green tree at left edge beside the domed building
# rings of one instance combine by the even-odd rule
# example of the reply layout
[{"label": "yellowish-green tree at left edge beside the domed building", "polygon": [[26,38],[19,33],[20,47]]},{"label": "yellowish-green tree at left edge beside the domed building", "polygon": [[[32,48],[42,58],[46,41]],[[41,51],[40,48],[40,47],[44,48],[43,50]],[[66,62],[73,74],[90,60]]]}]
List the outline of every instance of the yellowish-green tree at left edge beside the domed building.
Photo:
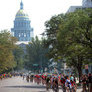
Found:
[{"label": "yellowish-green tree at left edge beside the domed building", "polygon": [[7,30],[0,33],[0,73],[12,69],[16,63],[12,54],[16,47],[16,38],[12,37]]}]

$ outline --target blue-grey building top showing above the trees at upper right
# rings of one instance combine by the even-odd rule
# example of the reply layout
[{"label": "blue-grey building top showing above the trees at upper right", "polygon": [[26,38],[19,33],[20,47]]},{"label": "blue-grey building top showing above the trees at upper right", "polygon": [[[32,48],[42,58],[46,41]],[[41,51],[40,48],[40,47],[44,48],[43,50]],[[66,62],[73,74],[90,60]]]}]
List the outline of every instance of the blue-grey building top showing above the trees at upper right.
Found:
[{"label": "blue-grey building top showing above the trees at upper right", "polygon": [[92,8],[92,0],[83,0],[82,6],[70,6],[67,13],[74,12],[76,9]]}]

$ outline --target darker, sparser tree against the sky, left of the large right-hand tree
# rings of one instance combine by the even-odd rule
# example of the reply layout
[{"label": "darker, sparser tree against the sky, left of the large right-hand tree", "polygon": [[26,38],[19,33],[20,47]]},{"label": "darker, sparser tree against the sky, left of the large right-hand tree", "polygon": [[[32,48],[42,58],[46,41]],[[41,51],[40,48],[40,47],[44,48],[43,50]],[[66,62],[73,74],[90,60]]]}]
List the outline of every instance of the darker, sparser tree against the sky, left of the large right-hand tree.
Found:
[{"label": "darker, sparser tree against the sky, left of the large right-hand tree", "polygon": [[63,14],[53,16],[49,21],[45,22],[46,31],[44,35],[46,36],[44,45],[45,47],[49,48],[48,57],[57,59],[57,48],[58,48],[58,41],[57,41],[57,33],[59,30],[59,25],[63,22],[61,21],[64,18]]}]

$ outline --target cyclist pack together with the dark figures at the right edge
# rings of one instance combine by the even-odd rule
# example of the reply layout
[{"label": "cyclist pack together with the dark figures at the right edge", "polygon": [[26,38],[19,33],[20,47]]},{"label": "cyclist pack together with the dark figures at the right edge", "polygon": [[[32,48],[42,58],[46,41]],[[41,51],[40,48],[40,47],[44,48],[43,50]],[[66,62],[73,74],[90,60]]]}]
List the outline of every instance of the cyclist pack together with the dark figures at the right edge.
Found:
[{"label": "cyclist pack together with the dark figures at the right edge", "polygon": [[[24,76],[23,76],[24,79]],[[36,74],[36,75],[27,75],[27,82],[35,82],[37,84],[46,85],[46,89],[52,89],[53,92],[59,92],[59,88],[63,92],[76,92],[77,83],[76,78],[73,75],[56,75],[56,74]],[[83,86],[83,92],[92,92],[92,74],[83,75],[81,77],[81,85]]]}]

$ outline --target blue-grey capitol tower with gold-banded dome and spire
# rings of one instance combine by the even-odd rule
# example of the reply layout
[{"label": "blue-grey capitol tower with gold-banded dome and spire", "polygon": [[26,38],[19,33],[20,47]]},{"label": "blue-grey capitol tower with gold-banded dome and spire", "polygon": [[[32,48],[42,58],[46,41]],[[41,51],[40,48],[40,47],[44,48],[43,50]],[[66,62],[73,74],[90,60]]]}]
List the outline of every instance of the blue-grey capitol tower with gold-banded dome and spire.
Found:
[{"label": "blue-grey capitol tower with gold-banded dome and spire", "polygon": [[18,39],[19,42],[29,42],[33,38],[33,28],[31,28],[28,14],[23,9],[22,0],[20,3],[20,9],[15,16],[14,28],[11,29],[11,32],[12,35]]}]

